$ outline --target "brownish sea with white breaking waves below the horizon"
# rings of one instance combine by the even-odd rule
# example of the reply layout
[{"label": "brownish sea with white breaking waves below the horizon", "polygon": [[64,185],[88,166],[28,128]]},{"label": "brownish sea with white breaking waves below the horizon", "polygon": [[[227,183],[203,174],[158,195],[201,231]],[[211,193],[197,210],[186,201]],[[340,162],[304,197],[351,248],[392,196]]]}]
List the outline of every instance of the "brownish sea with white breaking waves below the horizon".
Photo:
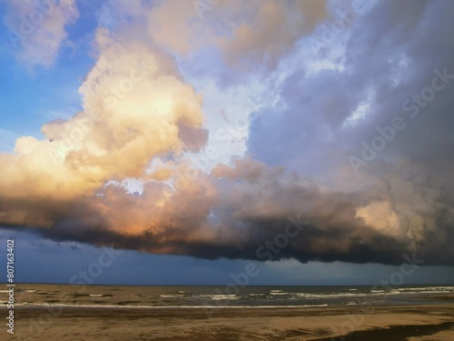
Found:
[{"label": "brownish sea with white breaking waves below the horizon", "polygon": [[[0,286],[0,307],[8,287]],[[15,306],[311,307],[454,303],[454,286],[81,286],[17,284]]]}]

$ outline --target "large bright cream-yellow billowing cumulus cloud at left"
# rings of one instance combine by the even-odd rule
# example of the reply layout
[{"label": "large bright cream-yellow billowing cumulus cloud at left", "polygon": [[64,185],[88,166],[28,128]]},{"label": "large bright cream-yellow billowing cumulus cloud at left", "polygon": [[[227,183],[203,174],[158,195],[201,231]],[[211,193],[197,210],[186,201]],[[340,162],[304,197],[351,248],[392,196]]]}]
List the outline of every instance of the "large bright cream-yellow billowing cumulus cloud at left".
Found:
[{"label": "large bright cream-yellow billowing cumulus cloud at left", "polygon": [[80,88],[84,111],[44,125],[46,139],[20,137],[15,155],[0,155],[8,178],[0,186],[2,202],[12,224],[49,226],[45,210],[36,217],[25,207],[41,210],[38,198],[46,198],[61,200],[49,208],[58,210],[93,196],[109,180],[144,176],[155,155],[203,143],[197,135],[202,97],[168,74],[160,55],[143,45],[115,44],[102,29],[97,41],[98,61]]}]

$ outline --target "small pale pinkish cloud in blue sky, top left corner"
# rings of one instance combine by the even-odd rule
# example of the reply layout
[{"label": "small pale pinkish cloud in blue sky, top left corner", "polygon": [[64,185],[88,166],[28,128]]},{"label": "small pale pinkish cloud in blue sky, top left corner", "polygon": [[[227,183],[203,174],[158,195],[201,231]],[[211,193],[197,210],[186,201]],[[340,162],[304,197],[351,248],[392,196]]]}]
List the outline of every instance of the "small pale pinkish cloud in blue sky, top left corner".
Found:
[{"label": "small pale pinkish cloud in blue sky, top left corner", "polygon": [[75,0],[6,1],[5,25],[12,50],[26,65],[49,67],[79,17]]}]

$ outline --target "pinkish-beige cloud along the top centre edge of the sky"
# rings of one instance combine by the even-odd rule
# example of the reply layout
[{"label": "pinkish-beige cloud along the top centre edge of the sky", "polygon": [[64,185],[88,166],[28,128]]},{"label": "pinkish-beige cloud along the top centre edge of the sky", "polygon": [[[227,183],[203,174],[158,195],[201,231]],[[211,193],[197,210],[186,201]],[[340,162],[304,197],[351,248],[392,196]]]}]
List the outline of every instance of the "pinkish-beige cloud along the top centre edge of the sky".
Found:
[{"label": "pinkish-beige cloud along the top centre edge of the sky", "polygon": [[258,65],[273,67],[301,36],[309,35],[328,16],[324,0],[137,4],[126,9],[112,0],[107,5],[107,21],[122,25],[121,18],[127,16],[145,22],[153,42],[175,55],[217,47],[228,65],[242,71]]}]

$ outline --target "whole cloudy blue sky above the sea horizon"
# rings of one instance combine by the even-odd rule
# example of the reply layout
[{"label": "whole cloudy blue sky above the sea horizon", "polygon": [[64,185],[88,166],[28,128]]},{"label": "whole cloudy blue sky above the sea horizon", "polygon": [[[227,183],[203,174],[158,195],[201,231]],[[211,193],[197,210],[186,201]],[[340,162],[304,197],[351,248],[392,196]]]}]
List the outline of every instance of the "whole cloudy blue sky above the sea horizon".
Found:
[{"label": "whole cloudy blue sky above the sea horizon", "polygon": [[0,0],[16,279],[453,284],[453,10]]}]

